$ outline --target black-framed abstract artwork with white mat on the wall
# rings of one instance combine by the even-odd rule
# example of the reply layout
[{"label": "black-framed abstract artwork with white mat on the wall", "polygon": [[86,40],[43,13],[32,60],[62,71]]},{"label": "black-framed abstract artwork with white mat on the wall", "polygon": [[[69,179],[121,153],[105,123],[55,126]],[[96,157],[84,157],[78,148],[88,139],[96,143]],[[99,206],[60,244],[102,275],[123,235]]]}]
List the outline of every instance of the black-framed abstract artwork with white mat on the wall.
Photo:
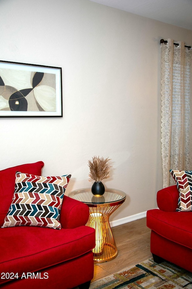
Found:
[{"label": "black-framed abstract artwork with white mat on the wall", "polygon": [[61,67],[0,61],[0,117],[62,117]]}]

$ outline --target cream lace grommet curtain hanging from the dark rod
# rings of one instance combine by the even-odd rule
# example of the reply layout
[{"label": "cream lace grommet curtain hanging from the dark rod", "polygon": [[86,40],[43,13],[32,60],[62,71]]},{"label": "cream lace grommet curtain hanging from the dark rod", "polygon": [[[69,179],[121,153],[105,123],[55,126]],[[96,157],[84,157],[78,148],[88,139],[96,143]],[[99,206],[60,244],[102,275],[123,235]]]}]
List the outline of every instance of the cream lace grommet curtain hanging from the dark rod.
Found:
[{"label": "cream lace grommet curtain hanging from the dark rod", "polygon": [[175,184],[170,169],[192,170],[192,50],[167,41],[161,44],[164,188]]}]

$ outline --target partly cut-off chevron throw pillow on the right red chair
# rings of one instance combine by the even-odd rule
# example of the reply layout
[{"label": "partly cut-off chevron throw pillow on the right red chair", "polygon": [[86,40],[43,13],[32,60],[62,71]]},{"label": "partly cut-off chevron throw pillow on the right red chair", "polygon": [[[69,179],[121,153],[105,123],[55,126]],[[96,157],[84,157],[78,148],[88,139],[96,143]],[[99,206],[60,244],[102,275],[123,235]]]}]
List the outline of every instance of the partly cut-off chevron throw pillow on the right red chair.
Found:
[{"label": "partly cut-off chevron throw pillow on the right red chair", "polygon": [[192,211],[192,171],[170,170],[179,191],[176,211]]}]

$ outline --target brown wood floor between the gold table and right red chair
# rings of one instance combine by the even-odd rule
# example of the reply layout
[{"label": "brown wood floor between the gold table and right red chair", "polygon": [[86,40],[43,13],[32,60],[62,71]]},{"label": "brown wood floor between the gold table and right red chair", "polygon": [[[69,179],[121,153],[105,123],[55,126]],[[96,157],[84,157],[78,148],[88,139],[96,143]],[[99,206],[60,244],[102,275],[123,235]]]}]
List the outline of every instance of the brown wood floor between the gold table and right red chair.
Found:
[{"label": "brown wood floor between the gold table and right red chair", "polygon": [[150,252],[151,230],[146,226],[146,218],[113,227],[112,232],[118,248],[118,255],[110,261],[95,263],[92,281],[152,257]]}]

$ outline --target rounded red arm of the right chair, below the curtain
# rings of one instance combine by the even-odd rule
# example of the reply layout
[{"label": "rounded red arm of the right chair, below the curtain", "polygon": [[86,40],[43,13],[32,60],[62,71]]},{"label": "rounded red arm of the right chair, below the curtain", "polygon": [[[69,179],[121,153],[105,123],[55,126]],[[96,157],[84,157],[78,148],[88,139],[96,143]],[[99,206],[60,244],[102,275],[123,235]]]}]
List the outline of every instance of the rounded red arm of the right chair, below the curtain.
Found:
[{"label": "rounded red arm of the right chair, below the curtain", "polygon": [[170,186],[157,192],[158,208],[165,212],[175,212],[178,208],[179,191],[177,186]]}]

